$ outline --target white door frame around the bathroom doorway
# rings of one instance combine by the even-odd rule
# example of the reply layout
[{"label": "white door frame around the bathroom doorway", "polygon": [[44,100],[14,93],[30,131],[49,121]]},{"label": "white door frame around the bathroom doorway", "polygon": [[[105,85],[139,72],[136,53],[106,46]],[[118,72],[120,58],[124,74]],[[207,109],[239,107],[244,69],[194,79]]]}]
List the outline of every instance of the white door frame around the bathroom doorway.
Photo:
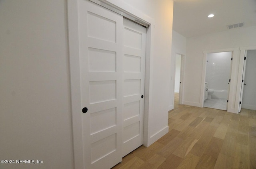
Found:
[{"label": "white door frame around the bathroom doorway", "polygon": [[204,83],[206,79],[206,61],[208,53],[218,53],[218,52],[232,52],[232,67],[230,76],[230,87],[228,96],[228,112],[234,112],[235,107],[235,96],[236,96],[236,81],[237,81],[237,67],[239,64],[239,48],[228,48],[228,49],[216,49],[210,51],[203,51],[203,67],[202,67],[202,81],[201,81],[201,92],[200,92],[200,104],[199,107],[204,106]]}]

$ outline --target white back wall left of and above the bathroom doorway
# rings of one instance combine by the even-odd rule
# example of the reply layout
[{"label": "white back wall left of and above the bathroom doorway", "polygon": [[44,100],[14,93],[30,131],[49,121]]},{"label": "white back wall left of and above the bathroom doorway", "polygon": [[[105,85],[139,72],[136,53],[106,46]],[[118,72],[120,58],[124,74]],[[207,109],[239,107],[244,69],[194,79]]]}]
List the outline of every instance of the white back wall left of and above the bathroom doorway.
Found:
[{"label": "white back wall left of and above the bathroom doorway", "polygon": [[[256,26],[230,29],[228,31],[187,38],[184,101],[200,106],[200,92],[203,69],[203,52],[208,50],[238,48],[256,45]],[[234,54],[233,63],[238,63],[239,54]],[[238,76],[235,65],[234,77]],[[234,78],[233,83],[237,82]],[[234,86],[236,88],[236,86]],[[234,91],[235,92],[235,91]],[[233,103],[232,103],[233,104]]]}]

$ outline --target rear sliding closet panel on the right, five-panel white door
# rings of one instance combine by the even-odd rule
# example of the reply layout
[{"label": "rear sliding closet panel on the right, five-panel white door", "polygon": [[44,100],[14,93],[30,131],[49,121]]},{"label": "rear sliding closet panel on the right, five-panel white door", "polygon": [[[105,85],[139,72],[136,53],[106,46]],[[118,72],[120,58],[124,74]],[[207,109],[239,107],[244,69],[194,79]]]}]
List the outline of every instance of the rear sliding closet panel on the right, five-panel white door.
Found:
[{"label": "rear sliding closet panel on the right, five-panel white door", "polygon": [[146,28],[123,20],[123,151],[143,144]]}]

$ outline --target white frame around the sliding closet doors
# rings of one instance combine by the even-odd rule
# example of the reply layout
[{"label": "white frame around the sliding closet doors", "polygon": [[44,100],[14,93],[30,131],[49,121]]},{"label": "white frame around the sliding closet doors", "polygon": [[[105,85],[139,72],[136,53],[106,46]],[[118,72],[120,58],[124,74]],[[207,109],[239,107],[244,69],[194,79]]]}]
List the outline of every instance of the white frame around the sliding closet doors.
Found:
[{"label": "white frame around the sliding closet doors", "polygon": [[[78,1],[67,1],[67,18],[68,18],[68,48],[70,62],[70,95],[71,95],[71,112],[72,112],[72,134],[74,149],[74,168],[84,169],[86,164],[83,157],[82,142],[82,112],[81,112],[81,94],[80,94],[80,58],[79,58],[79,40],[78,40]],[[145,99],[144,99],[144,132],[143,145],[148,147],[152,143],[150,138],[149,110],[153,109],[152,102],[152,76],[153,76],[153,51],[154,45],[152,37],[154,37],[154,20],[136,8],[127,6],[123,1],[107,2],[106,0],[90,0],[98,2],[101,6],[110,6],[114,10],[121,12],[126,18],[135,18],[138,24],[147,23],[146,29],[146,65],[145,65]],[[112,1],[111,1],[112,2]],[[114,4],[115,3],[115,4]],[[115,11],[115,12],[116,12]],[[130,19],[129,18],[129,19]]]}]

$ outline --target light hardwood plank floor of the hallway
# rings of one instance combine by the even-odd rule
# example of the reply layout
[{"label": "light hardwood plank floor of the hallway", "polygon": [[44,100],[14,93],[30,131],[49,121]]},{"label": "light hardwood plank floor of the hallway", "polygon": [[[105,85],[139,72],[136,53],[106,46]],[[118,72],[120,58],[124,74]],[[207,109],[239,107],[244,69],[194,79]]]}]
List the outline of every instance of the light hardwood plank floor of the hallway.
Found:
[{"label": "light hardwood plank floor of the hallway", "polygon": [[169,132],[140,146],[112,169],[256,169],[256,111],[178,104],[169,112]]}]

